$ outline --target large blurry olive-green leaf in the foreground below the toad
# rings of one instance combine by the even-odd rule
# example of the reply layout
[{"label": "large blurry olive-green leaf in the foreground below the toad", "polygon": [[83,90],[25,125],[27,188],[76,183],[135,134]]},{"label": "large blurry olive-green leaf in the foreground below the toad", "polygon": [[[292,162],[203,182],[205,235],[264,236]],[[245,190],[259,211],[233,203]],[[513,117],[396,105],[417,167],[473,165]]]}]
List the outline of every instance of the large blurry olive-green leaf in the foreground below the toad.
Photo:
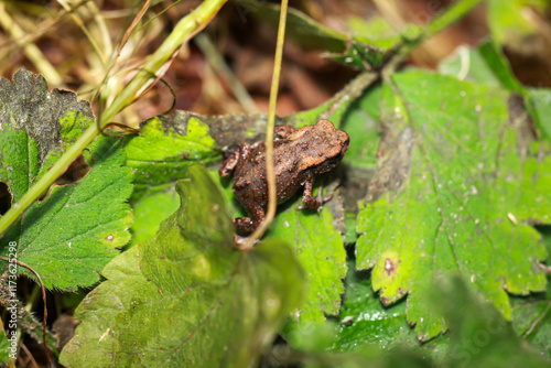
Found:
[{"label": "large blurry olive-green leaf in the foreground below the toad", "polygon": [[281,241],[234,247],[220,188],[201,166],[156,237],[115,258],[75,313],[61,362],[73,367],[251,367],[303,293]]}]

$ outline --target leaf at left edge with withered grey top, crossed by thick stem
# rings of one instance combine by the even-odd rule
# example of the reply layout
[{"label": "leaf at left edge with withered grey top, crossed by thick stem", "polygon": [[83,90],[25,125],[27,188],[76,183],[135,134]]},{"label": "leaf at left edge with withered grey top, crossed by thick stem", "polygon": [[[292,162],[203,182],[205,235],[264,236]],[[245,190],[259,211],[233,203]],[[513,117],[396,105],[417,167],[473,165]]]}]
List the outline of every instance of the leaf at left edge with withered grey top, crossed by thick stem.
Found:
[{"label": "leaf at left edge with withered grey top, crossed by thick stem", "polygon": [[[75,94],[48,94],[44,78],[34,80],[24,69],[13,84],[0,79],[0,181],[14,204],[93,118]],[[130,239],[132,216],[125,201],[132,172],[121,167],[120,142],[98,139],[85,155],[91,170],[80,182],[51,188],[0,239],[1,253],[8,256],[9,245],[17,243],[18,260],[39,272],[46,288],[91,285]]]}]

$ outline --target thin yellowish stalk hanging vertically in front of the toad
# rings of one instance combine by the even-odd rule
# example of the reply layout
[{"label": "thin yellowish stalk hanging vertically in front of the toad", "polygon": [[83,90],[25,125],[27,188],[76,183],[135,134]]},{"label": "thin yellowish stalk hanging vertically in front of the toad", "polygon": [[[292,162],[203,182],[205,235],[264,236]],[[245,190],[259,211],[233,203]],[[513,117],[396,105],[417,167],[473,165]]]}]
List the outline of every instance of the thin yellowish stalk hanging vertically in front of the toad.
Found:
[{"label": "thin yellowish stalk hanging vertically in front of the toad", "polygon": [[276,126],[276,106],[278,102],[279,78],[281,73],[281,61],[283,58],[283,42],[285,40],[287,9],[289,1],[281,0],[279,15],[278,43],[273,63],[272,84],[270,89],[270,105],[268,109],[268,125],[266,127],[266,176],[268,181],[268,210],[259,227],[247,239],[244,249],[252,249],[257,239],[260,239],[268,226],[276,217],[278,198],[276,195],[276,172],[273,167],[273,128]]}]

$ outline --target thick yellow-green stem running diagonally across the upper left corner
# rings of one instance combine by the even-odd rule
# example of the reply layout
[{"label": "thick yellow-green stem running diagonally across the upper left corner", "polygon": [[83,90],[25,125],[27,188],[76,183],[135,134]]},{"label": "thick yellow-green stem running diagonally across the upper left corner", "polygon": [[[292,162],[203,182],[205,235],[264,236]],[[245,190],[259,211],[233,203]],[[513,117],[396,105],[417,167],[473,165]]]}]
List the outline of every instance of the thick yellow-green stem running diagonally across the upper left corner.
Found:
[{"label": "thick yellow-green stem running diagonally across the upper left corner", "polygon": [[99,116],[97,125],[89,127],[78,140],[68,148],[63,156],[50,169],[42,178],[36,182],[13,206],[0,218],[0,236],[3,236],[8,228],[36,201],[47,188],[60,177],[90,144],[111,119],[125,107],[129,106],[138,98],[142,91],[147,90],[165,72],[165,64],[176,53],[181,45],[190,41],[195,34],[201,32],[206,24],[216,15],[218,10],[227,0],[205,0],[201,6],[184,17],[176,24],[172,33],[161,44],[161,46],[150,55],[138,74],[117,95],[112,104]]}]

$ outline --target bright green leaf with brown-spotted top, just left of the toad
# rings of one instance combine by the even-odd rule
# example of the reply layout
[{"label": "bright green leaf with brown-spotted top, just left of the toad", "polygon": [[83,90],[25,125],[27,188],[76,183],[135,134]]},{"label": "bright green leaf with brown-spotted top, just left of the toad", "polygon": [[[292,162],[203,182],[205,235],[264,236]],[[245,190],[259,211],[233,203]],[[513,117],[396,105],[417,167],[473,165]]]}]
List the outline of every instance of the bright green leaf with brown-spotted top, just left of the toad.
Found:
[{"label": "bright green leaf with brown-spotted top, just left of the toad", "polygon": [[[128,140],[127,165],[136,170],[132,194],[136,220],[130,246],[153,238],[161,221],[179,207],[175,183],[187,167],[219,160],[220,149],[210,136],[210,120],[176,111],[172,120],[155,117],[141,125],[140,136]],[[214,126],[214,123],[212,123]]]}]

